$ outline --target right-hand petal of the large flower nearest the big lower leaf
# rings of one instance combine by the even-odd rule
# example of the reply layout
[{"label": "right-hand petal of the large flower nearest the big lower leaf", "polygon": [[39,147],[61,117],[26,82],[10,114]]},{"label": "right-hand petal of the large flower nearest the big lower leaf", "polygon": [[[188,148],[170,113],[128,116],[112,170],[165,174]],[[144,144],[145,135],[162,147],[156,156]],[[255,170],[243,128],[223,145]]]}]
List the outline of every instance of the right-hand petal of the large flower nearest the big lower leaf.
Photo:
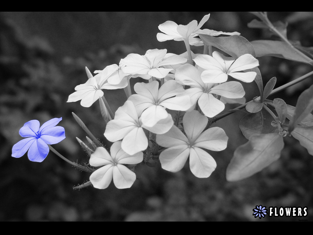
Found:
[{"label": "right-hand petal of the large flower nearest the big lower leaf", "polygon": [[228,137],[219,127],[212,127],[199,135],[193,146],[213,151],[221,151],[227,147]]}]

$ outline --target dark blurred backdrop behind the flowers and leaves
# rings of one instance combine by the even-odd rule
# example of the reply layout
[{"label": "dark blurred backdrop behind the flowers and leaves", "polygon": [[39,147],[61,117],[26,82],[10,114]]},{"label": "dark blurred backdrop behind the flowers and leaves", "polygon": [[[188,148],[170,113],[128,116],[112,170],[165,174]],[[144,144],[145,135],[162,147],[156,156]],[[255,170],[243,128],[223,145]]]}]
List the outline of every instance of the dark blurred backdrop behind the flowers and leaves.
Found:
[{"label": "dark blurred backdrop behind the flowers and leaves", "polygon": [[[118,64],[129,53],[144,55],[149,49],[185,52],[176,41],[158,42],[158,25],[167,20],[188,24],[211,16],[202,29],[240,32],[249,41],[268,39],[267,31],[249,29],[256,18],[248,12],[1,12],[0,14],[0,220],[1,221],[298,221],[293,217],[252,216],[256,205],[307,206],[313,219],[313,158],[299,142],[286,137],[278,161],[254,176],[227,182],[225,170],[233,151],[247,142],[238,128],[242,113],[234,113],[215,125],[229,137],[228,148],[210,152],[217,168],[209,178],[199,179],[188,163],[178,173],[161,165],[137,165],[138,180],[130,189],[114,184],[98,190],[89,186],[80,191],[73,186],[89,180],[88,173],[74,169],[52,152],[42,163],[27,155],[11,157],[12,146],[22,139],[18,131],[29,120],[41,124],[51,118],[63,120],[66,138],[54,148],[79,163],[88,162],[75,137],[86,134],[74,121],[76,113],[90,131],[105,141],[100,108],[80,102],[67,103],[74,87],[85,83],[85,66],[91,72]],[[269,12],[272,22],[288,22],[290,40],[313,46],[312,12]],[[192,47],[197,53],[202,50]],[[274,57],[259,58],[263,81],[276,76],[276,87],[298,78],[312,68]],[[134,81],[133,81],[134,82]],[[298,83],[275,96],[295,106],[298,96],[312,84]],[[255,84],[244,84],[246,98],[258,95]],[[105,90],[115,112],[125,101],[122,91]],[[235,107],[235,106],[234,106]],[[232,107],[233,108],[233,107]],[[301,218],[300,218],[301,219]],[[302,217],[302,219],[304,219]]]}]

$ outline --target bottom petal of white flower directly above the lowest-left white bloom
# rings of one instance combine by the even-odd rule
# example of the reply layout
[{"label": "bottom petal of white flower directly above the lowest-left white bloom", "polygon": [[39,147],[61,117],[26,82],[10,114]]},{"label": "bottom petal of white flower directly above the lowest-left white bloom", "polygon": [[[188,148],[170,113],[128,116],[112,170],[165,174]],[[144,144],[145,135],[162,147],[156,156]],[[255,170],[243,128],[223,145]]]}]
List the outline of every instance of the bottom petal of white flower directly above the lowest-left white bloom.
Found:
[{"label": "bottom petal of white flower directly above the lowest-left white bloom", "polygon": [[122,149],[129,155],[144,151],[148,147],[148,139],[141,127],[132,129],[122,140]]}]

